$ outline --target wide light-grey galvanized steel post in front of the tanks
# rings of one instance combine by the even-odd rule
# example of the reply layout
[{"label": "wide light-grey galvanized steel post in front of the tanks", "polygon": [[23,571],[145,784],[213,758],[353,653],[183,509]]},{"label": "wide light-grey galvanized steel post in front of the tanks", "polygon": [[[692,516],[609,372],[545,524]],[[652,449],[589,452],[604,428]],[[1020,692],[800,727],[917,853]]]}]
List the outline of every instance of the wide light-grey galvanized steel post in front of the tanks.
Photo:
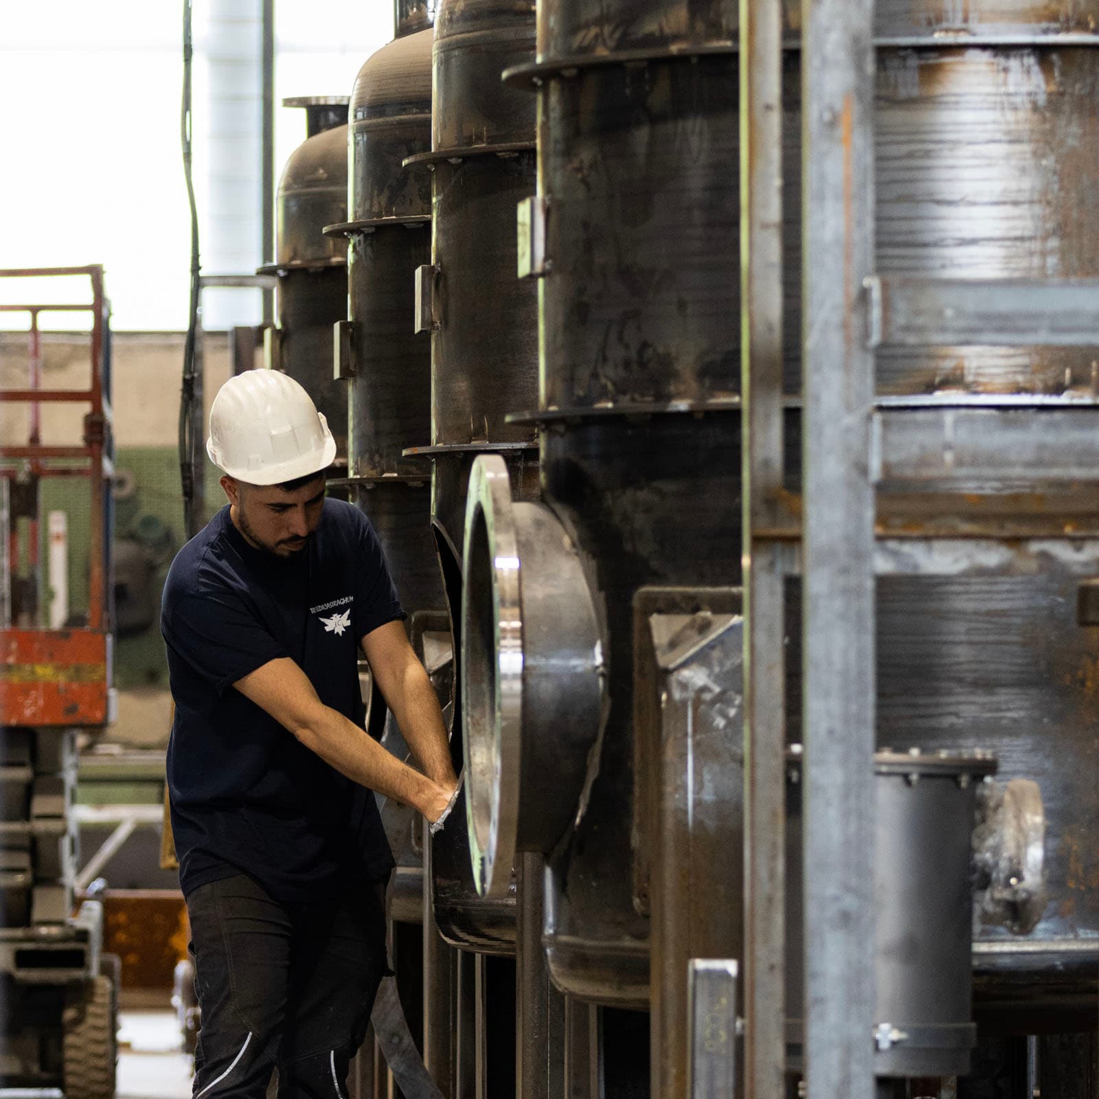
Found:
[{"label": "wide light-grey galvanized steel post in front of the tanks", "polygon": [[803,900],[809,1099],[872,1099],[873,0],[802,2]]}]

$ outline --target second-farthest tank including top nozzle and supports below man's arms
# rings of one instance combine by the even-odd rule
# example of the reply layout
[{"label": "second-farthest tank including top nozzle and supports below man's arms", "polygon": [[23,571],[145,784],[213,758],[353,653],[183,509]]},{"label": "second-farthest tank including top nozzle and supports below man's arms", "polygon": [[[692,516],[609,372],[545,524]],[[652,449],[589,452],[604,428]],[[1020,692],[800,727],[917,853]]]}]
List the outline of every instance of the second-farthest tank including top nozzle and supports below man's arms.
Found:
[{"label": "second-farthest tank including top nozzle and supports below man's arms", "polygon": [[[430,11],[397,5],[397,37],[371,55],[356,77],[343,156],[349,166],[351,220],[329,227],[347,242],[346,312],[337,326],[336,373],[347,389],[352,499],[369,517],[386,552],[409,636],[436,690],[449,691],[449,635],[431,539],[425,471],[401,455],[429,422],[431,362],[412,330],[412,274],[430,254],[431,189],[402,165],[431,144]],[[400,758],[401,731],[377,690],[371,732]],[[449,1014],[448,980],[429,981],[449,959],[424,920],[423,822],[407,806],[385,801],[382,824],[397,862],[388,898],[390,957],[411,1033],[439,1083],[447,1086],[448,1034],[433,1024],[432,999]],[[428,999],[425,1000],[425,993]],[[381,1085],[391,1094],[392,1083]]]}]

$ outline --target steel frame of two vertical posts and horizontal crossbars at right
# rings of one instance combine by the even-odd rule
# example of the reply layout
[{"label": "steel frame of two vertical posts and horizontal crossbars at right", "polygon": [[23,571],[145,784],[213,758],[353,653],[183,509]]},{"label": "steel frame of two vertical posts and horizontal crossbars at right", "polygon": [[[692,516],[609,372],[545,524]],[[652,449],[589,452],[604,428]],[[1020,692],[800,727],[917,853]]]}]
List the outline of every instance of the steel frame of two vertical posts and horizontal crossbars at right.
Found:
[{"label": "steel frame of two vertical posts and horizontal crossbars at right", "polygon": [[[877,576],[1099,571],[1099,541],[1033,493],[1010,513],[966,477],[1024,474],[1099,501],[1099,400],[877,398],[875,348],[1099,343],[1099,279],[950,280],[875,271],[873,0],[802,0],[802,488],[782,478],[782,11],[742,0],[741,202],[745,607],[745,1094],[785,1095],[785,1022],[804,1020],[809,1099],[875,1095],[873,754]],[[1046,407],[1048,406],[1048,407]],[[1043,419],[1044,418],[1044,419]],[[965,455],[965,465],[957,454]],[[889,481],[891,491],[877,493]],[[920,512],[934,485],[951,521]],[[1058,510],[1059,509],[1059,510]],[[1092,524],[1094,525],[1094,524]],[[801,576],[803,880],[786,882],[782,585]],[[1099,620],[1099,619],[1097,619]],[[804,925],[784,928],[788,887]],[[785,943],[803,1011],[784,1003]]]}]

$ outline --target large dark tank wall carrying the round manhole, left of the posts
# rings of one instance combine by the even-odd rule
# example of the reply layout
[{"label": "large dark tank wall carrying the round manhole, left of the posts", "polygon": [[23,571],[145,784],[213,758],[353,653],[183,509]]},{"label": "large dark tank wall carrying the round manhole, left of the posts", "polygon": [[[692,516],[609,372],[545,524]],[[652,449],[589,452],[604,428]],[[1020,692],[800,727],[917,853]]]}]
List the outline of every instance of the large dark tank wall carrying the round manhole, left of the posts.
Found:
[{"label": "large dark tank wall carrying the round manhole, left of the posts", "polygon": [[[635,598],[740,578],[736,29],[718,2],[604,8],[541,5],[534,67],[543,499],[590,562],[606,645],[601,731],[548,855],[544,942],[566,992],[640,1007]],[[674,56],[686,41],[695,56]]]}]

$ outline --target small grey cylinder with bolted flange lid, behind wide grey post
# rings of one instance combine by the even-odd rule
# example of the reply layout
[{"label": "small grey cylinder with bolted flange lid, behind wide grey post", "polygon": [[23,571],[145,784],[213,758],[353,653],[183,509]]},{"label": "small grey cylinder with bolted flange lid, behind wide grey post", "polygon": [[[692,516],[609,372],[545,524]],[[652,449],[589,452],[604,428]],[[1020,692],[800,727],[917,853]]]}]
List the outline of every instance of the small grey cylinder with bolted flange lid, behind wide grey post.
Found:
[{"label": "small grey cylinder with bolted flange lid, behind wide grey post", "polygon": [[[798,745],[800,748],[800,745]],[[973,1023],[973,831],[984,755],[879,752],[874,761],[875,1073],[969,1072]],[[787,1014],[790,1067],[801,1063],[804,996],[800,752],[787,798]]]}]

